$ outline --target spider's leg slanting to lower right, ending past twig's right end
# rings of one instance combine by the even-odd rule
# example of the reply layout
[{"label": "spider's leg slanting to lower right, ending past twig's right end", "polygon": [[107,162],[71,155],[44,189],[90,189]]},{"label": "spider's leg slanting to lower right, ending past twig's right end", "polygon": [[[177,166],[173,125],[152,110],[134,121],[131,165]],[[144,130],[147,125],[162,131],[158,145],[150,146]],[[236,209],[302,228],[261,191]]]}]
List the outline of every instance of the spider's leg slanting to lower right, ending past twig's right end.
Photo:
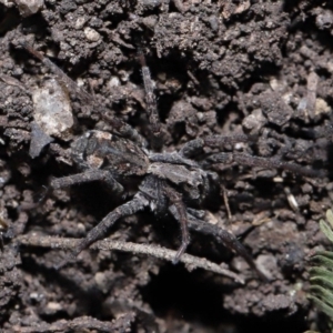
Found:
[{"label": "spider's leg slanting to lower right, ending past twig's right end", "polygon": [[199,220],[191,213],[188,213],[188,218],[190,229],[204,234],[211,234],[215,239],[220,240],[225,246],[234,250],[239,255],[241,255],[262,280],[268,281],[268,278],[258,269],[244,245],[233,234],[214,224]]}]

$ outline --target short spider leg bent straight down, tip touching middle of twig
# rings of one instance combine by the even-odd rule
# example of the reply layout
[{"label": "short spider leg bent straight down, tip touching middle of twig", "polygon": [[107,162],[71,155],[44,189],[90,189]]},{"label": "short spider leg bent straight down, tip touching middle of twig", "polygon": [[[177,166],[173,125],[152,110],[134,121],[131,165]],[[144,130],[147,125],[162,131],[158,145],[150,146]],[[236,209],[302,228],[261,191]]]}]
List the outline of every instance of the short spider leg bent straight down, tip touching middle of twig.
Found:
[{"label": "short spider leg bent straight down, tip touching middle of twig", "polygon": [[190,243],[188,213],[186,213],[186,208],[182,200],[182,195],[179,192],[176,192],[175,190],[173,190],[171,186],[168,185],[164,186],[164,192],[168,195],[169,200],[173,203],[173,206],[176,211],[176,214],[174,214],[171,211],[172,214],[181,224],[182,243],[172,261],[172,263],[176,264],[181,255],[186,251],[186,248]]}]

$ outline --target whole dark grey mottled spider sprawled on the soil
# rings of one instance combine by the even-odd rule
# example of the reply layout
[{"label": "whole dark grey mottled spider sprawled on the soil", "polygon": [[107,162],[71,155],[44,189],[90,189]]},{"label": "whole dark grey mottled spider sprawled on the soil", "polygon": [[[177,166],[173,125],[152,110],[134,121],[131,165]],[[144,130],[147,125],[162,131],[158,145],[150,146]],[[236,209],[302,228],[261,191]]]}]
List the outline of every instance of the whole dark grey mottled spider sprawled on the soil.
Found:
[{"label": "whole dark grey mottled spider sprawled on the soil", "polygon": [[[24,43],[23,47],[31,54],[47,65],[68,89],[80,100],[94,103],[94,99],[87,91],[79,88],[60,68],[42,53]],[[142,52],[139,52],[142,77],[145,90],[145,102],[152,132],[152,144],[158,150],[162,142],[161,125],[158,115],[153,82]],[[253,138],[245,134],[232,137],[210,135],[198,138],[185,143],[179,151],[154,152],[145,149],[144,139],[129,124],[120,119],[108,117],[102,105],[99,108],[112,124],[112,133],[90,130],[71,144],[71,157],[80,173],[53,179],[51,190],[92,181],[105,182],[114,195],[125,191],[129,179],[140,179],[138,192],[128,202],[119,205],[99,222],[73,251],[77,256],[97,240],[104,238],[110,228],[121,218],[135,214],[150,208],[152,212],[168,212],[181,225],[181,245],[173,259],[178,263],[190,243],[189,229],[211,234],[228,248],[242,255],[249,265],[263,279],[251,255],[240,241],[230,232],[203,221],[204,211],[198,210],[202,203],[216,193],[219,175],[210,171],[214,163],[243,164],[250,167],[284,169],[304,175],[315,175],[313,170],[278,159],[252,157],[244,153],[219,152],[212,153],[204,161],[196,159],[204,147],[221,148],[225,144],[246,142]],[[185,203],[191,205],[186,206]]]}]

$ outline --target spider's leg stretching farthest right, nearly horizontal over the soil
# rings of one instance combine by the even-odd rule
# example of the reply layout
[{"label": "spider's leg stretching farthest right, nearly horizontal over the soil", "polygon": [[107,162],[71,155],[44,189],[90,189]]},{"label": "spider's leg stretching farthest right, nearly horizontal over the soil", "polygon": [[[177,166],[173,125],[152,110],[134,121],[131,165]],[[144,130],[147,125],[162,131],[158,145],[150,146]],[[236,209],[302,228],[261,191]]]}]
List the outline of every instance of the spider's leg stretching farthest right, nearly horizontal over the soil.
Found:
[{"label": "spider's leg stretching farthest right, nearly horizontal over the soil", "polygon": [[322,173],[317,170],[304,168],[294,163],[283,162],[278,159],[266,159],[252,157],[243,153],[216,153],[210,155],[203,163],[203,167],[208,167],[214,163],[238,163],[248,167],[260,167],[266,169],[284,169],[293,173],[303,174],[305,176],[321,176]]}]

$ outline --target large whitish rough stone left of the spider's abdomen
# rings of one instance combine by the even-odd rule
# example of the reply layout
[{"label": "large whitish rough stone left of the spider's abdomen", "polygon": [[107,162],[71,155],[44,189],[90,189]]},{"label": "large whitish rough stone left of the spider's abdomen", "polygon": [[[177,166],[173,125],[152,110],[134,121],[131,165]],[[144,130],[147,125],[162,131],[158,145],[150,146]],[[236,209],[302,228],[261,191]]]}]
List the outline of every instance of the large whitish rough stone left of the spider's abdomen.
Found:
[{"label": "large whitish rough stone left of the spider's abdomen", "polygon": [[56,79],[32,92],[34,121],[49,135],[67,140],[74,120],[68,93]]}]

